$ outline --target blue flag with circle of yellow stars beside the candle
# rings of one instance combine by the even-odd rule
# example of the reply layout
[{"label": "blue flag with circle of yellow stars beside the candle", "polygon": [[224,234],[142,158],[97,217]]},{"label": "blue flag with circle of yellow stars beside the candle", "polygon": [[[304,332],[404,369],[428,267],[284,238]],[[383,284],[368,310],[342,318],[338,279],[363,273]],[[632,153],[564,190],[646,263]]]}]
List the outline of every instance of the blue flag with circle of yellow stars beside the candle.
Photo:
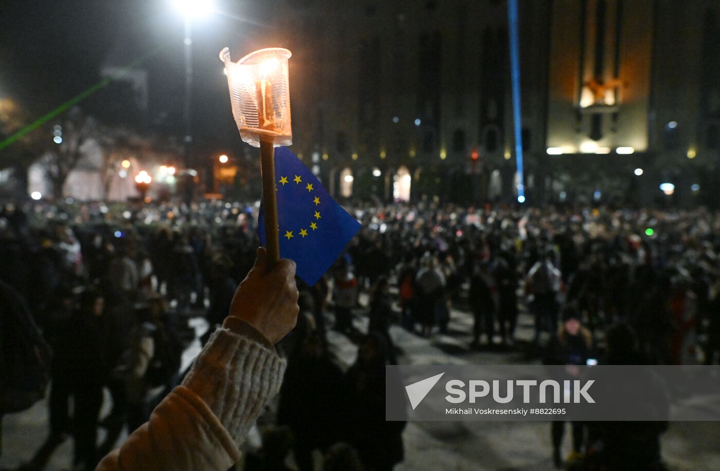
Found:
[{"label": "blue flag with circle of yellow stars beside the candle", "polygon": [[[338,205],[315,175],[287,147],[275,149],[280,257],[297,264],[297,276],[312,286],[360,230],[360,223]],[[258,236],[265,244],[260,207]]]}]

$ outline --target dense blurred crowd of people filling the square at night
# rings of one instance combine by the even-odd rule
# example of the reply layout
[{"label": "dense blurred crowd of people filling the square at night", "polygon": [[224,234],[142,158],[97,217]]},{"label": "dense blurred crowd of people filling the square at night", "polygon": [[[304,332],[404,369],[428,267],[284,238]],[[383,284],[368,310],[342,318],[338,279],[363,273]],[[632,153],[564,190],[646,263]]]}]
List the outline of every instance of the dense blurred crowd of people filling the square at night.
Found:
[{"label": "dense blurred crowd of people filling the square at night", "polygon": [[[290,454],[301,471],[315,469],[319,454],[325,470],[401,462],[405,423],[384,420],[384,366],[402,354],[394,324],[442,336],[454,310],[467,310],[469,349],[522,346],[553,364],[710,364],[720,353],[714,213],[429,201],[347,209],[363,228],[320,282],[300,283],[298,326],[277,346],[287,374],[247,470],[287,469]],[[205,342],[228,315],[255,259],[257,211],[219,201],[0,207],[0,286],[32,313],[53,352],[50,431],[25,469],[42,469],[70,436],[76,469],[94,469],[124,427],[148,420],[184,374],[188,319],[207,319]],[[522,312],[534,318],[527,345],[516,334]],[[338,364],[329,328],[358,344],[354,364]],[[104,389],[112,411],[101,420]],[[97,444],[100,427],[107,438]],[[552,425],[557,465],[563,429]],[[663,430],[644,429],[643,446],[624,442],[634,443],[627,459],[660,466]],[[582,423],[572,432],[572,460],[639,434]]]}]

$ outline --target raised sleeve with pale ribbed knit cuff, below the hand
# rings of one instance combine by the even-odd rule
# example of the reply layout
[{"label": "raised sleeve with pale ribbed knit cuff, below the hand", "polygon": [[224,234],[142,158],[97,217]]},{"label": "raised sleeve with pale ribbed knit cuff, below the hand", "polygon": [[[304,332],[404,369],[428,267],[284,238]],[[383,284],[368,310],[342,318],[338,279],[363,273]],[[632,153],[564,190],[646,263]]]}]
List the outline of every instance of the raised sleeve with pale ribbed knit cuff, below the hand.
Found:
[{"label": "raised sleeve with pale ribbed knit cuff, below the hand", "polygon": [[212,335],[182,385],[96,471],[225,471],[240,458],[286,365],[251,326],[235,323],[233,331]]}]

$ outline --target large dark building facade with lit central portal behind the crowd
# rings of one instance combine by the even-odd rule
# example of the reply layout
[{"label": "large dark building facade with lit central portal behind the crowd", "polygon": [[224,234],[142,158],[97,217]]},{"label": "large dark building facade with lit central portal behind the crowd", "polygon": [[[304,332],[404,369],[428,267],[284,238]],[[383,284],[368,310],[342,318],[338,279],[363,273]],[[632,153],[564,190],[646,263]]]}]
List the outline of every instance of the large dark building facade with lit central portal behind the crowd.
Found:
[{"label": "large dark building facade with lit central portal behind the crowd", "polygon": [[[331,192],[515,200],[505,1],[282,3],[294,151]],[[519,3],[529,201],[711,198],[720,4]]]}]

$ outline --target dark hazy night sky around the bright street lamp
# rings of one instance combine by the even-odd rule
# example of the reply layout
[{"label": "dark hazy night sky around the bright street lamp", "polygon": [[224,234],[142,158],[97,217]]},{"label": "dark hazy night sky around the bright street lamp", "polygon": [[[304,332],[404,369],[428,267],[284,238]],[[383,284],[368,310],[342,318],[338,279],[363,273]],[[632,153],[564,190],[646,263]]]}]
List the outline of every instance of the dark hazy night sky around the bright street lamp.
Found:
[{"label": "dark hazy night sky around the bright street lamp", "polygon": [[[219,12],[194,22],[193,134],[198,151],[240,145],[217,55],[227,45],[237,59],[258,43],[272,42],[267,12],[273,4],[216,0]],[[121,66],[156,51],[142,66],[149,73],[150,121],[167,115],[166,128],[181,135],[183,48],[182,17],[168,0],[4,0],[0,97],[18,99],[40,116],[96,84],[108,60]],[[93,114],[103,106],[103,94],[99,91],[81,107]]]}]

